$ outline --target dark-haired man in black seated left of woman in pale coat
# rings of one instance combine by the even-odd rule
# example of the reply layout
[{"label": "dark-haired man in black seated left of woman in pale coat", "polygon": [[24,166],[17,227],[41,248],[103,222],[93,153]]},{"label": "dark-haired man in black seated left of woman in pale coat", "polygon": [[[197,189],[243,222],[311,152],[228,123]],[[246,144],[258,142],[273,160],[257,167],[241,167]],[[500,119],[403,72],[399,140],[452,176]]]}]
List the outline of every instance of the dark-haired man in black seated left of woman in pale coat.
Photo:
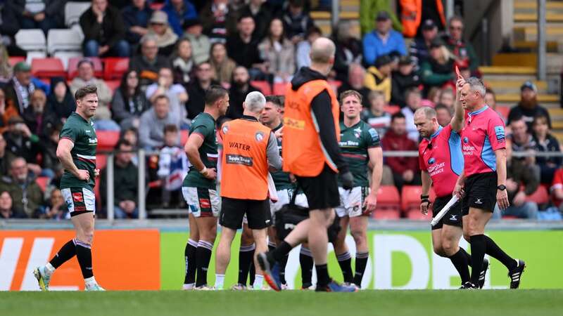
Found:
[{"label": "dark-haired man in black seated left of woman in pale coat", "polygon": [[258,39],[252,37],[254,27],[254,19],[250,15],[241,16],[237,25],[239,32],[227,39],[227,55],[236,65],[250,70],[252,78],[266,72],[258,51]]}]

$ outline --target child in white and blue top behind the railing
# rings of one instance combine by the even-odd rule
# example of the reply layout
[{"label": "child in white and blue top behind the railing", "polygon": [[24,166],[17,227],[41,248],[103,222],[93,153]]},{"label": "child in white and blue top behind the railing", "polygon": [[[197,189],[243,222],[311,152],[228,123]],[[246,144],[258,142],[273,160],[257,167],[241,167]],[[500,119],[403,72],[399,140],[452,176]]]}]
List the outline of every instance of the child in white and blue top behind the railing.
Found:
[{"label": "child in white and blue top behind the railing", "polygon": [[158,157],[158,178],[163,185],[163,206],[170,205],[172,195],[175,201],[183,201],[180,197],[184,177],[188,173],[189,162],[184,148],[179,146],[179,133],[175,125],[164,127],[164,147]]}]

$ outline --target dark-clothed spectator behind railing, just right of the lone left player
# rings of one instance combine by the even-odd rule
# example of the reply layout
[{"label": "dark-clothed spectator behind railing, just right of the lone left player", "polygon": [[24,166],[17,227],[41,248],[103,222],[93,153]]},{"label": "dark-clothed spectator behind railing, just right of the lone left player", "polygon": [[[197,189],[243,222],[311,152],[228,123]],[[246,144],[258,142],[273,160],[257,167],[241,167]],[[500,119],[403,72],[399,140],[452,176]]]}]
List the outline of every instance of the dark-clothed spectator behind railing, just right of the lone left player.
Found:
[{"label": "dark-clothed spectator behind railing, just right of the lone left player", "polygon": [[[133,146],[127,140],[120,140],[115,145],[115,164],[113,166],[113,212],[115,218],[139,218],[137,209],[138,198],[138,169],[132,163]],[[107,200],[107,169],[103,169],[100,174],[100,193],[103,201]]]}]

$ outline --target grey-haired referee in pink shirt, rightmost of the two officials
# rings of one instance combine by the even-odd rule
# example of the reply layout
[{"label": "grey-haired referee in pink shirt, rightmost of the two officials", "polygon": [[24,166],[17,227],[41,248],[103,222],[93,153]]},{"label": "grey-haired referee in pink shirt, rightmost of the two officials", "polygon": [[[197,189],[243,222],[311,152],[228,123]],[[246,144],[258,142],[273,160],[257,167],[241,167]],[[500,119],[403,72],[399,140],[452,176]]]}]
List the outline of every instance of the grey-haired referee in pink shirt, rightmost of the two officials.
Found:
[{"label": "grey-haired referee in pink shirt, rightmost of the two officials", "polygon": [[505,123],[485,103],[485,86],[481,80],[467,79],[460,101],[467,111],[462,129],[464,173],[458,178],[454,194],[462,190],[463,234],[471,243],[472,275],[466,284],[479,288],[479,274],[485,254],[500,261],[508,269],[510,289],[517,289],[526,264],[513,259],[485,235],[485,226],[493,216],[495,204],[503,210],[509,206],[506,192]]}]

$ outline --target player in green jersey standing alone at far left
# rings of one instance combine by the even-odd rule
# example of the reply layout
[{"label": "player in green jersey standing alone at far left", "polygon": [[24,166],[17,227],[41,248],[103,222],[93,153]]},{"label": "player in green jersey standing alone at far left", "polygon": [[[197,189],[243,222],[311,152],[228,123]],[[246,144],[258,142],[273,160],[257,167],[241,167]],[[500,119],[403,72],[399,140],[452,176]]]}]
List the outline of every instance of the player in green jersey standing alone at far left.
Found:
[{"label": "player in green jersey standing alone at far left", "polygon": [[96,86],[79,88],[75,93],[75,100],[76,112],[70,114],[63,126],[56,154],[65,169],[61,178],[61,193],[68,205],[76,237],[67,242],[51,261],[33,271],[43,291],[49,290],[55,269],[75,255],[82,270],[86,291],[103,291],[94,278],[91,253],[96,216],[94,178],[99,176],[99,169],[96,169],[98,138],[91,121],[98,107]]}]

